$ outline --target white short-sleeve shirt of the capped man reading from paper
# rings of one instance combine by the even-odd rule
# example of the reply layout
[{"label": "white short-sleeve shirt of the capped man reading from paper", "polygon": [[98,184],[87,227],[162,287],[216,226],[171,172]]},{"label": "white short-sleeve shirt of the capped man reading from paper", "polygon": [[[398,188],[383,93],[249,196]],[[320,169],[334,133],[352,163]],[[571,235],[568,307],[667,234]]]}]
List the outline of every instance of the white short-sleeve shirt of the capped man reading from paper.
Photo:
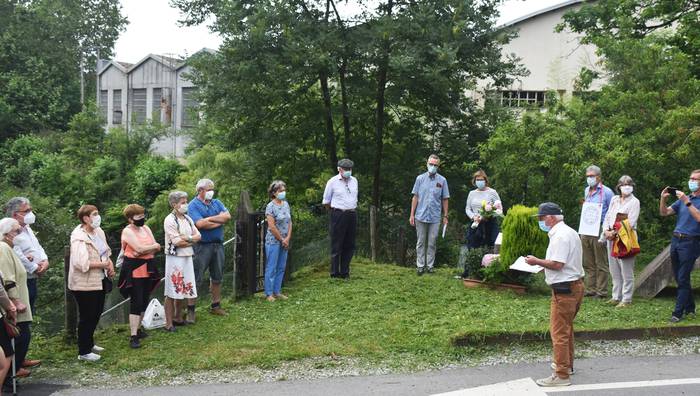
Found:
[{"label": "white short-sleeve shirt of the capped man reading from paper", "polygon": [[579,280],[584,275],[581,238],[563,221],[549,230],[549,246],[545,259],[564,263],[558,271],[544,269],[544,278],[548,285]]}]

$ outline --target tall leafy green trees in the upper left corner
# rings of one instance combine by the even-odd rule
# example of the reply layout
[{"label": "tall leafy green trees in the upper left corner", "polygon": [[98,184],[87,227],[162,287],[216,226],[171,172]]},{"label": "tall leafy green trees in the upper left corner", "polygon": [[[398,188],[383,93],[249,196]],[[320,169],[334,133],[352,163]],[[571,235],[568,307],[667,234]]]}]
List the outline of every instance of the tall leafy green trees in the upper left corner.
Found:
[{"label": "tall leafy green trees in the upper left corner", "polygon": [[118,0],[0,2],[0,141],[65,130],[80,111],[80,59],[93,71],[125,25]]}]

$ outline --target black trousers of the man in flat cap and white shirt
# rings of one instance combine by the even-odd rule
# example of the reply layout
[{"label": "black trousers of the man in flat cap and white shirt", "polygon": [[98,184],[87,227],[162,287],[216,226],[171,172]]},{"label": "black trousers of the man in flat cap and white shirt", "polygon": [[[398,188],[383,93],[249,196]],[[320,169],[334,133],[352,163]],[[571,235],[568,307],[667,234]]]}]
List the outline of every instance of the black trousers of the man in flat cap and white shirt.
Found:
[{"label": "black trousers of the man in flat cap and white shirt", "polygon": [[331,277],[350,276],[350,260],[355,254],[357,213],[331,209]]}]

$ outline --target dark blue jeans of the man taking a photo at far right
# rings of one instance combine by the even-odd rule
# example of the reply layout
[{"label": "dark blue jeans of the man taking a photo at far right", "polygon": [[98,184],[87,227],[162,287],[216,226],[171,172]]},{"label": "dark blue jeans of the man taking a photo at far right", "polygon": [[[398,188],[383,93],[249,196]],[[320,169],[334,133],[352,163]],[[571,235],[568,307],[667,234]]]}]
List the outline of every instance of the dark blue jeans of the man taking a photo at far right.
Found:
[{"label": "dark blue jeans of the man taking a photo at far right", "polygon": [[690,272],[693,270],[695,260],[700,256],[700,240],[691,238],[671,239],[671,264],[673,276],[678,285],[676,296],[676,308],[673,316],[682,318],[683,315],[695,313],[695,299],[693,289],[690,286]]}]

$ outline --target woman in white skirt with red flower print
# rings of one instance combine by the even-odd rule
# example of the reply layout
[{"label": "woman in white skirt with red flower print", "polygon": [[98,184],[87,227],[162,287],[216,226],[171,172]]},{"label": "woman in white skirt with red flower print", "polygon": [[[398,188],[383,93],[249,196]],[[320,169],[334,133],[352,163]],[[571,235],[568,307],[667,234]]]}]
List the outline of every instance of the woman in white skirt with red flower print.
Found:
[{"label": "woman in white skirt with red flower print", "polygon": [[[197,282],[194,278],[192,245],[202,235],[187,215],[187,193],[173,191],[168,195],[172,212],[163,221],[165,231],[165,330],[174,332],[174,326],[182,326],[184,300],[197,298]],[[190,318],[190,321],[193,318]]]}]

